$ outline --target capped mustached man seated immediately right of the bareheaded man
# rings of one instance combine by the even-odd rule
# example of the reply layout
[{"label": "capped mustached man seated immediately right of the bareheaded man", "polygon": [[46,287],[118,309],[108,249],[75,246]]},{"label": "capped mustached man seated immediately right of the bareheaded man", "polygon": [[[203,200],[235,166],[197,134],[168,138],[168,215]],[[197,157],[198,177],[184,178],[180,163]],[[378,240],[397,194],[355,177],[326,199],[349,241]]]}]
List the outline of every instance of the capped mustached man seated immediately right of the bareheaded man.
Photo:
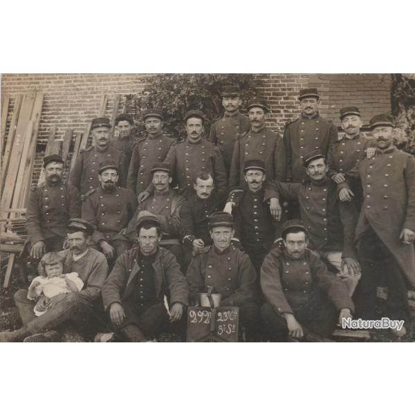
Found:
[{"label": "capped mustached man seated immediately right of the bareheaded man", "polygon": [[[237,208],[232,211],[235,222],[235,238],[242,243],[255,266],[257,275],[265,256],[274,241],[280,237],[281,226],[270,214],[270,205],[264,202],[265,163],[262,160],[245,162],[246,187]],[[259,280],[257,290],[261,292]]]}]

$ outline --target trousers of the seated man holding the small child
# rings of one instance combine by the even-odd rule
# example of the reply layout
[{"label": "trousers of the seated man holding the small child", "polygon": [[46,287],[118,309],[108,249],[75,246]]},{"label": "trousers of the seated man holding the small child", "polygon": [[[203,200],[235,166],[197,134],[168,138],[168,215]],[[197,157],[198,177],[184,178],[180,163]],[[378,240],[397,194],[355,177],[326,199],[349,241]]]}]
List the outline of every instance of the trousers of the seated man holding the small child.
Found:
[{"label": "trousers of the seated man holding the small child", "polygon": [[30,333],[43,333],[46,330],[56,329],[59,324],[72,321],[82,329],[88,327],[94,333],[106,329],[103,320],[98,317],[98,311],[93,310],[93,304],[77,295],[75,299],[66,297],[46,313],[36,317],[33,312],[35,302],[28,299],[27,290],[19,290],[15,293],[15,304],[19,310],[21,321]]}]

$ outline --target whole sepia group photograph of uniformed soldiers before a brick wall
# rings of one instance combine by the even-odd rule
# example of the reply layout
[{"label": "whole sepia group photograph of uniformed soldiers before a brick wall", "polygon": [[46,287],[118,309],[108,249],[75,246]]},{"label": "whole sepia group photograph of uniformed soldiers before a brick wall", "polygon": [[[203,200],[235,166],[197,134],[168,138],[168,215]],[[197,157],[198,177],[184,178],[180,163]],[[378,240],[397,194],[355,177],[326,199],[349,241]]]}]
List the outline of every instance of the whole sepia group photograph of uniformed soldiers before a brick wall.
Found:
[{"label": "whole sepia group photograph of uniformed soldiers before a brick wall", "polygon": [[0,342],[413,342],[414,91],[3,73]]}]

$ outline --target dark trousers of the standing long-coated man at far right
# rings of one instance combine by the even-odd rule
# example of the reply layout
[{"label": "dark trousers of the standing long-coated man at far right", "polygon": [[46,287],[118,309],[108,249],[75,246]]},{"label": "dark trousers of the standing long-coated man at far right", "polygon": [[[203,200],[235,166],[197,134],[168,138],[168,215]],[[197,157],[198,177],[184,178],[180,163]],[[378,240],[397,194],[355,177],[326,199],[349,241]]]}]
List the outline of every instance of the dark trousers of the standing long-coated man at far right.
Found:
[{"label": "dark trousers of the standing long-coated man at far right", "polygon": [[358,317],[365,320],[376,319],[376,291],[379,280],[383,278],[388,287],[387,317],[391,320],[408,320],[409,303],[405,275],[394,255],[372,228],[362,236],[358,256],[362,278],[353,295]]}]

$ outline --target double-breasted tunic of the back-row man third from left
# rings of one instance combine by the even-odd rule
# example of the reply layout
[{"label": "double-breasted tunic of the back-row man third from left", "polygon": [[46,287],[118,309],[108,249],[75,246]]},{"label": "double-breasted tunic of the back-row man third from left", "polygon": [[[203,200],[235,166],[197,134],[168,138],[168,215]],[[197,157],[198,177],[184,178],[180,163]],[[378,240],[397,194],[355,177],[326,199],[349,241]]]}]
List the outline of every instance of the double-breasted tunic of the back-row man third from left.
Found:
[{"label": "double-breasted tunic of the back-row man third from left", "polygon": [[151,167],[154,163],[160,163],[165,159],[173,144],[174,140],[164,136],[163,133],[156,137],[139,138],[129,163],[127,188],[136,194],[144,192],[151,183]]}]

